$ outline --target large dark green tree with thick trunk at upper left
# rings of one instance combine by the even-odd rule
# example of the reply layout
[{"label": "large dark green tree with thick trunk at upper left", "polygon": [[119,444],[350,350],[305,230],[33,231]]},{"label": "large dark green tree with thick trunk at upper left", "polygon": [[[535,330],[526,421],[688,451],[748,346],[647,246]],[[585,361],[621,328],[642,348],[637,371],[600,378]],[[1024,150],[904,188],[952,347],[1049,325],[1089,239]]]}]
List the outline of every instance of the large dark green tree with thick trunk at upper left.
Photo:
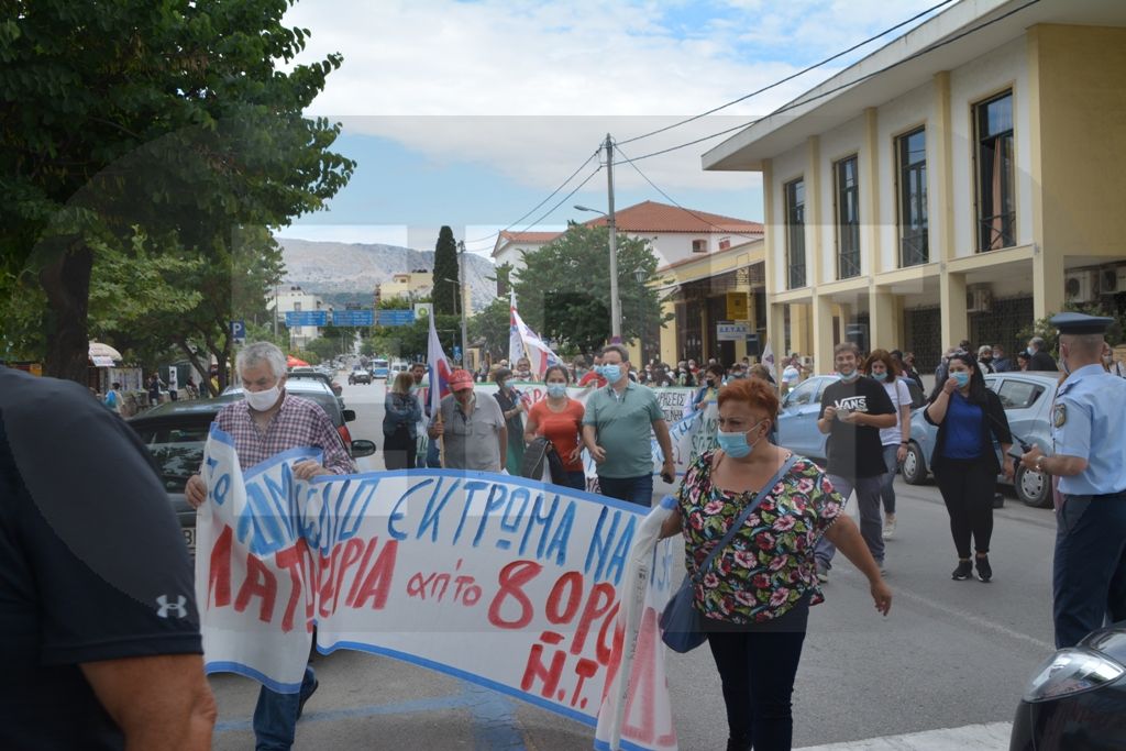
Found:
[{"label": "large dark green tree with thick trunk at upper left", "polygon": [[107,252],[133,252],[136,227],[152,253],[205,261],[199,286],[181,286],[203,295],[198,315],[152,320],[182,322],[166,337],[194,361],[206,347],[225,374],[235,307],[223,304],[270,276],[236,276],[247,270],[239,233],[323,207],[355,168],[329,151],[338,125],[301,116],[340,56],[275,68],[309,35],[282,25],[288,5],[6,3],[0,316],[34,320],[12,301],[42,295],[33,343],[50,375],[84,379],[93,268]]}]

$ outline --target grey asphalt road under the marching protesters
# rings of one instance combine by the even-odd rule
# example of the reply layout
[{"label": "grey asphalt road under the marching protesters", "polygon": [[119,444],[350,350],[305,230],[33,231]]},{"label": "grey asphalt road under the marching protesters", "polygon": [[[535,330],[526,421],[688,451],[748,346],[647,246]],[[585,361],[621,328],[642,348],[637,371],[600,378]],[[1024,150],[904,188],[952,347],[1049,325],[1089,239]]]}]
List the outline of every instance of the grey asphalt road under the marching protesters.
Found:
[{"label": "grey asphalt road under the marching protesters", "polygon": [[[345,386],[356,438],[382,447],[383,382]],[[379,468],[378,455],[361,463]],[[812,610],[794,691],[795,748],[936,728],[1006,723],[1035,667],[1052,653],[1052,512],[1011,493],[995,513],[994,579],[953,581],[948,518],[933,485],[896,483],[899,529],[888,542],[891,616],[881,617],[864,578],[841,556]],[[436,638],[463,638],[436,634]],[[592,746],[593,730],[507,696],[395,660],[359,652],[316,655],[321,681],[297,726],[300,749],[503,749]],[[723,699],[711,653],[669,655],[681,749],[722,748]],[[251,748],[258,685],[213,676],[220,707],[216,749]],[[967,727],[1004,735],[1003,725]],[[895,748],[914,748],[910,745]],[[946,748],[946,746],[932,746]]]}]

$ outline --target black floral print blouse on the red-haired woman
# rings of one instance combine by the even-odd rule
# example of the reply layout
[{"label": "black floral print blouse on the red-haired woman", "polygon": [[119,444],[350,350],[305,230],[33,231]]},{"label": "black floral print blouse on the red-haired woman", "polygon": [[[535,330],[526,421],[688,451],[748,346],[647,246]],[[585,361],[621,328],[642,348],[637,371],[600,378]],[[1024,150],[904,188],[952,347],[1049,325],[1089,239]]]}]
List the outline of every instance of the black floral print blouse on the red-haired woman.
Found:
[{"label": "black floral print blouse on the red-haired woman", "polygon": [[[706,452],[689,466],[677,497],[689,574],[756,497],[712,485],[714,454]],[[799,457],[712,562],[696,585],[696,609],[707,618],[752,624],[785,615],[806,593],[810,605],[824,601],[813,548],[843,509],[824,471]]]}]

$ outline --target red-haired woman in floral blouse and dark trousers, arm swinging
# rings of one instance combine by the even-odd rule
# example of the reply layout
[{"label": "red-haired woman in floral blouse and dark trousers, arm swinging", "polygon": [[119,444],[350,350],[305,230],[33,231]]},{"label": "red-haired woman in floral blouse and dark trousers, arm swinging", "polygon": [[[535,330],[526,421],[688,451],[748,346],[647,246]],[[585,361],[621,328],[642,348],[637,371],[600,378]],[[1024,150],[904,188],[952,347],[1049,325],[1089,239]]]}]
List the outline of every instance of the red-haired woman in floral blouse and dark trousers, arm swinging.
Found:
[{"label": "red-haired woman in floral blouse and dark trousers, arm swinging", "polygon": [[696,589],[708,645],[723,683],[727,750],[789,749],[790,696],[810,606],[823,601],[813,548],[828,537],[868,578],[876,609],[892,607],[844,501],[813,462],[799,458],[772,489],[762,489],[789,457],[767,436],[778,413],[769,384],[749,378],[720,391],[718,448],[700,455],[680,486],[662,537],[685,537],[689,573],[727,533],[758,492],[769,497],[721,551]]}]

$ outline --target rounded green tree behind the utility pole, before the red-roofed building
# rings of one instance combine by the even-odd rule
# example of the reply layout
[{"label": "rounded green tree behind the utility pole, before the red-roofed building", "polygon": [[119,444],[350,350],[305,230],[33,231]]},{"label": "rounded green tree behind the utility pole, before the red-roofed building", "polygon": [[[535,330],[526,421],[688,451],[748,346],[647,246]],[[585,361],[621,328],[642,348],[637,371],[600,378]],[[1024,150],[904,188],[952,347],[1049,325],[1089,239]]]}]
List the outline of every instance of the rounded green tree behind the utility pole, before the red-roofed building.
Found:
[{"label": "rounded green tree behind the utility pole, before the red-roofed building", "polygon": [[[661,314],[658,293],[637,284],[636,269],[656,272],[646,240],[618,235],[618,296],[626,341],[650,336],[671,315]],[[571,223],[566,232],[531,252],[515,283],[520,318],[545,339],[598,349],[610,337],[610,241],[605,226]]]}]

